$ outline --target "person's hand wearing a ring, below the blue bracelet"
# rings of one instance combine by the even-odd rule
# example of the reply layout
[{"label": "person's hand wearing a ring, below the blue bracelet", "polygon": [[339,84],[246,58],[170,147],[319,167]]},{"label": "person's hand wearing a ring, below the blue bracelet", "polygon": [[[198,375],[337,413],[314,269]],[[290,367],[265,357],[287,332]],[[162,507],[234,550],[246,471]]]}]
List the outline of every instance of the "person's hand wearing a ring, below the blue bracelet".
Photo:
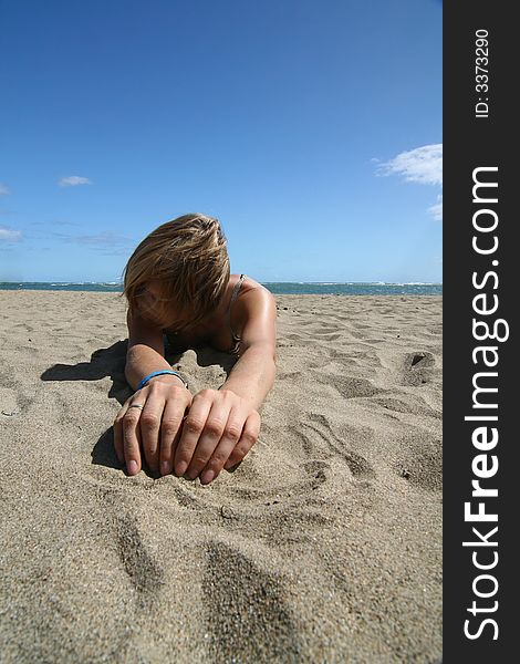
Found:
[{"label": "person's hand wearing a ring, below the blue bracelet", "polygon": [[139,444],[154,473],[159,467],[162,475],[171,473],[175,443],[191,400],[177,378],[157,376],[125,402],[114,421],[114,447],[128,475],[141,470]]}]

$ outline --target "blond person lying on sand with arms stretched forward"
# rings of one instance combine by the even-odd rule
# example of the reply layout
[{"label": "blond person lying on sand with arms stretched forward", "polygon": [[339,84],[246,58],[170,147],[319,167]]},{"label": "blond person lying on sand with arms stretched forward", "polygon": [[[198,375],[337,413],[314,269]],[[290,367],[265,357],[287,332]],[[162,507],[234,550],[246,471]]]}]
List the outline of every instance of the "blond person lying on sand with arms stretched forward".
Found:
[{"label": "blond person lying on sand with arms stretched forward", "polygon": [[[202,484],[243,459],[260,430],[258,408],[275,375],[277,307],[245,274],[229,273],[217,219],[185,215],[150,232],[124,272],[128,302],[125,375],[135,390],[114,422],[117,458],[128,475],[142,456],[160,475]],[[165,360],[202,344],[239,360],[219,390],[195,396]]]}]

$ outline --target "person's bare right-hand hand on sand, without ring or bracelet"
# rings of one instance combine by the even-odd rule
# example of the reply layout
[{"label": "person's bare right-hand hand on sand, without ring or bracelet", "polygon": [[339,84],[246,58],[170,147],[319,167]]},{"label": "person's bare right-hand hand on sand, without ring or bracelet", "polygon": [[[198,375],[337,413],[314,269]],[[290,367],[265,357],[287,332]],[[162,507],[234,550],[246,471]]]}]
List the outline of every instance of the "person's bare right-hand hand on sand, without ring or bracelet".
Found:
[{"label": "person's bare right-hand hand on sand, without ring or bracelet", "polygon": [[248,454],[260,433],[260,415],[229,390],[194,396],[175,450],[175,471],[209,484]]}]

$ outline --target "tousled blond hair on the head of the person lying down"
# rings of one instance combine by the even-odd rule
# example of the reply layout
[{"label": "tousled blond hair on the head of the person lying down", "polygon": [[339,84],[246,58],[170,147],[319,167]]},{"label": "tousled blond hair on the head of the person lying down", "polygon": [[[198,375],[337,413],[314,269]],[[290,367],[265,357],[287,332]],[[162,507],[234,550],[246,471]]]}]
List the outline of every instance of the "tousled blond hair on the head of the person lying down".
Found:
[{"label": "tousled blond hair on the head of the person lying down", "polygon": [[[229,257],[220,224],[206,215],[184,215],[150,232],[135,249],[124,271],[131,308],[153,284],[162,326],[180,313],[197,323],[219,304],[229,281]],[[148,291],[149,292],[149,291]]]}]

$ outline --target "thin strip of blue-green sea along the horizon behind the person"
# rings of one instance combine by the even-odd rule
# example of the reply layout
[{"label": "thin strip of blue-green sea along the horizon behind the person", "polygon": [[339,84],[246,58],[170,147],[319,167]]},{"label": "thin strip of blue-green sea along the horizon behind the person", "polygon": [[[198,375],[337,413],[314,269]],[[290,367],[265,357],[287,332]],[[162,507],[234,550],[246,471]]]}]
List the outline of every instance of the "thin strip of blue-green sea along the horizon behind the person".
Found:
[{"label": "thin strip of blue-green sea along the horizon behind the person", "polygon": [[[279,295],[441,295],[441,283],[364,283],[364,282],[301,282],[266,281],[263,286]],[[0,281],[0,290],[91,291],[121,292],[118,282],[51,282],[51,281]]]}]

